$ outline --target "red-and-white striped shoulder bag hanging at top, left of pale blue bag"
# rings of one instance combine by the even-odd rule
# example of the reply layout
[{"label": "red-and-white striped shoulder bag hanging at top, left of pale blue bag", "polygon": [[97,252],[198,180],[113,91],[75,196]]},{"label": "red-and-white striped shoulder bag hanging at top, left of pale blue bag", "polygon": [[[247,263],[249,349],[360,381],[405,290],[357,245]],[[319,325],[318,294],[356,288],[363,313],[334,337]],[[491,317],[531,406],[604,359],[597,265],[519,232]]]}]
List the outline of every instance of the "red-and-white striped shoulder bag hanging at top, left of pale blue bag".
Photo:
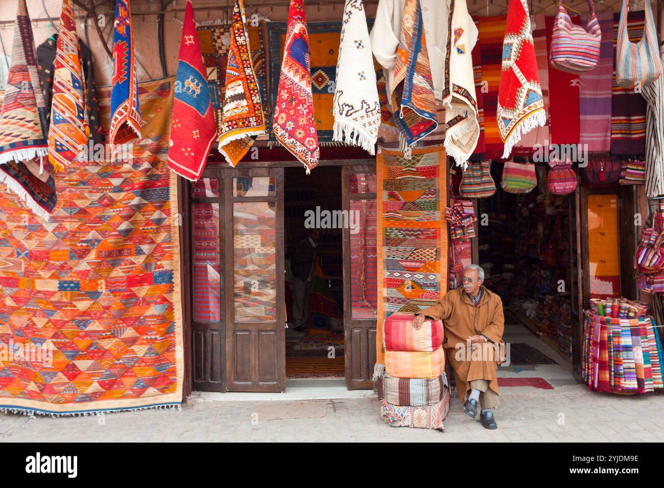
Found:
[{"label": "red-and-white striped shoulder bag hanging at top, left of pale blue bag", "polygon": [[562,0],[559,0],[548,52],[548,62],[556,70],[579,74],[597,66],[600,60],[602,30],[592,0],[588,0],[588,8],[588,24],[584,29],[572,23]]}]

